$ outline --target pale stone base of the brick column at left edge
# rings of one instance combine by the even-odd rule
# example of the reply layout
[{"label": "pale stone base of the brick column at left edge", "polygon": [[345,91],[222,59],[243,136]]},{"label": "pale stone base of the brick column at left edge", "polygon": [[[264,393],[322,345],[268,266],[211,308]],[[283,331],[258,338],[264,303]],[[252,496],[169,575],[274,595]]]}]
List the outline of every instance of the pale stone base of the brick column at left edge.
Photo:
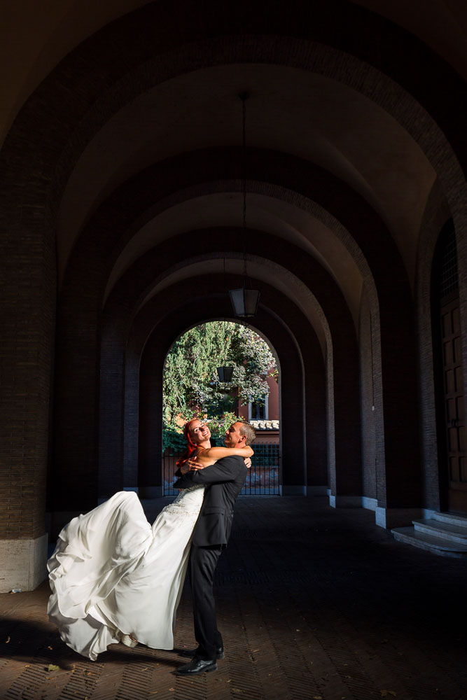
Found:
[{"label": "pale stone base of the brick column at left edge", "polygon": [[0,593],[34,591],[47,577],[48,533],[34,540],[0,540]]}]

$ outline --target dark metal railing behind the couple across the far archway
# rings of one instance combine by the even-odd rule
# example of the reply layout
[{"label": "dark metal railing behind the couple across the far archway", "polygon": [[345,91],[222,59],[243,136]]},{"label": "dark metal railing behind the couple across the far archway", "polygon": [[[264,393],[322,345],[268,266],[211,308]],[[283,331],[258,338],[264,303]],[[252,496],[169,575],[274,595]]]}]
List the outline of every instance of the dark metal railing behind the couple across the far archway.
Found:
[{"label": "dark metal railing behind the couple across the far archway", "polygon": [[[248,470],[240,496],[279,496],[279,445],[255,442],[253,449],[255,454],[251,459],[251,469]],[[179,493],[172,488],[178,458],[179,454],[169,454],[168,450],[162,455],[164,496],[176,496]]]}]

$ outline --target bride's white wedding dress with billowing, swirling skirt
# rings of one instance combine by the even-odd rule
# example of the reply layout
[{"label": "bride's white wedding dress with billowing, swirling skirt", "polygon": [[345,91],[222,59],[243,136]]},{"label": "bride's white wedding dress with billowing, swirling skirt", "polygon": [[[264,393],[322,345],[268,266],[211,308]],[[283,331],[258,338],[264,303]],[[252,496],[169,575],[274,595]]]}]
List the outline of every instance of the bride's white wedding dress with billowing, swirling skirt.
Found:
[{"label": "bride's white wedding dress with billowing, swirling skirt", "polygon": [[136,493],[120,491],[65,526],[48,561],[48,615],[90,659],[109,644],[173,649],[176,609],[204,486],[179,493],[151,526]]}]

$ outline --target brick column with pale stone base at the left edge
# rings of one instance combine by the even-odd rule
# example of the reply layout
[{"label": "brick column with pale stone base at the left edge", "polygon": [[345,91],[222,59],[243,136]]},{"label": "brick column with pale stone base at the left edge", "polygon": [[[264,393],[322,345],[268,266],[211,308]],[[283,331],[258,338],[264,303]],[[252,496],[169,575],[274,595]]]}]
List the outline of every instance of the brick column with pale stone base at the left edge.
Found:
[{"label": "brick column with pale stone base at the left edge", "polygon": [[54,237],[44,226],[40,189],[18,195],[18,183],[0,169],[0,593],[33,590],[46,577],[56,282]]}]

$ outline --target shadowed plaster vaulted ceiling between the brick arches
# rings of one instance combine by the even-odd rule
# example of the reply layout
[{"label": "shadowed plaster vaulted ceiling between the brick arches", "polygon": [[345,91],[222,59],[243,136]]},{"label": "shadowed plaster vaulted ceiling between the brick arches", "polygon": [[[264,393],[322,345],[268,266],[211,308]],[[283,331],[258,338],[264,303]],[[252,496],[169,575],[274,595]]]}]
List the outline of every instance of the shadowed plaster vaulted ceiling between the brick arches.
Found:
[{"label": "shadowed plaster vaulted ceiling between the brick arches", "polygon": [[[337,7],[339,0],[336,1]],[[421,223],[435,183],[440,179],[437,157],[431,149],[435,139],[429,133],[430,130],[434,133],[435,119],[424,105],[378,66],[365,62],[361,47],[352,55],[326,45],[326,31],[330,36],[328,25],[329,22],[332,25],[332,18],[326,20],[328,25],[324,22],[323,43],[315,41],[312,49],[307,48],[312,42],[300,43],[301,39],[288,44],[288,29],[284,29],[284,36],[274,38],[271,38],[272,29],[265,30],[263,44],[259,38],[251,45],[248,41],[238,45],[233,40],[223,42],[223,31],[228,30],[222,29],[221,22],[218,36],[209,36],[214,30],[206,29],[206,41],[211,43],[209,48],[204,47],[202,57],[199,49],[193,49],[190,56],[190,42],[186,39],[183,43],[178,37],[179,43],[174,41],[173,50],[167,39],[167,45],[159,53],[158,42],[162,45],[165,36],[163,32],[158,34],[159,26],[154,22],[153,56],[148,63],[130,65],[129,59],[129,77],[124,77],[120,67],[109,77],[111,35],[106,34],[101,55],[99,30],[104,31],[111,22],[123,18],[115,26],[120,43],[116,50],[124,63],[125,15],[130,34],[137,36],[135,18],[141,20],[144,6],[150,4],[141,0],[99,3],[53,0],[46,12],[37,3],[29,3],[25,12],[21,2],[4,3],[1,10],[4,41],[0,57],[2,64],[8,66],[8,74],[1,83],[3,132],[0,136],[14,123],[27,98],[35,90],[35,94],[41,94],[41,80],[46,85],[48,76],[57,76],[55,80],[63,93],[60,99],[64,99],[68,90],[79,94],[80,80],[83,84],[85,80],[97,80],[107,71],[102,93],[89,102],[88,113],[81,108],[79,120],[73,130],[70,127],[72,136],[67,137],[69,141],[79,141],[79,147],[74,146],[74,162],[61,185],[57,207],[59,289],[77,241],[85,236],[86,230],[94,231],[94,237],[99,235],[95,221],[112,193],[120,193],[122,201],[134,197],[130,183],[137,179],[142,183],[143,174],[156,165],[160,167],[160,179],[165,179],[175,159],[185,156],[190,162],[179,185],[174,185],[165,197],[155,197],[153,210],[146,206],[134,214],[131,233],[115,244],[104,284],[103,305],[123,275],[163,241],[197,230],[215,229],[221,236],[223,228],[241,227],[242,195],[235,167],[225,165],[213,171],[214,174],[200,175],[193,181],[190,175],[207,158],[205,153],[217,154],[215,157],[222,160],[222,153],[239,151],[242,104],[238,94],[245,89],[251,93],[246,102],[246,141],[253,154],[247,183],[249,229],[270,235],[272,241],[275,238],[288,241],[319,262],[337,283],[357,325],[365,279],[368,284],[373,272],[368,273],[368,261],[361,254],[361,244],[356,243],[358,216],[354,217],[354,230],[349,230],[337,202],[342,197],[336,197],[335,206],[332,201],[332,190],[339,183],[354,193],[358,201],[365,202],[368,211],[389,232],[413,289]],[[385,18],[388,31],[391,22],[396,23],[412,33],[414,50],[418,50],[417,37],[457,73],[467,75],[467,10],[460,1],[366,0],[341,5],[357,8],[358,21],[365,22],[366,18],[377,15],[377,21]],[[156,2],[152,6],[153,20],[158,18],[158,13],[162,18],[160,26],[165,26],[164,22],[177,26],[177,18],[171,16],[176,12],[175,3],[165,6]],[[198,15],[202,10],[198,3],[188,2],[185,6],[188,10],[183,17],[183,31],[188,31],[189,13],[193,11],[197,14],[199,42],[203,25]],[[279,6],[282,8],[280,3]],[[248,13],[248,7],[248,3],[243,3],[241,11]],[[282,9],[286,21],[285,3]],[[233,18],[235,6],[231,6],[230,13]],[[259,34],[258,27],[255,31]],[[277,27],[276,31],[279,31]],[[348,31],[344,43],[351,48],[351,27]],[[362,31],[365,36],[365,29]],[[401,36],[408,37],[410,44],[410,35]],[[129,39],[129,46],[131,41],[134,39]],[[169,50],[172,54],[167,59]],[[398,45],[394,45],[395,54],[398,51]],[[75,56],[74,63],[69,59],[68,63],[60,64],[67,56]],[[370,53],[367,60],[369,57]],[[169,60],[170,69],[165,71]],[[164,68],[160,78],[156,64]],[[79,80],[70,72],[71,65],[75,71],[82,69]],[[100,121],[87,123],[92,110],[102,117]],[[289,168],[289,178],[272,176],[270,164],[274,162],[274,153],[289,158],[288,165],[285,161],[282,165],[283,169]],[[182,161],[180,164],[182,173]],[[305,172],[304,164],[312,164],[312,174]],[[295,177],[299,169],[302,169],[300,185],[298,175]],[[307,178],[319,181],[328,194],[321,200],[314,196],[316,182]],[[354,206],[349,202],[347,211]],[[362,221],[365,211],[363,207]],[[92,235],[89,234],[90,239]],[[156,290],[181,279],[219,272],[222,265],[225,272],[241,272],[235,254],[226,254],[225,246],[223,250],[224,253],[216,253],[200,246],[200,258],[190,258],[181,267],[167,270],[165,279],[155,282],[148,298]],[[251,253],[250,271],[291,300],[301,300],[299,305],[303,309],[307,306],[291,269],[287,276]]]}]

